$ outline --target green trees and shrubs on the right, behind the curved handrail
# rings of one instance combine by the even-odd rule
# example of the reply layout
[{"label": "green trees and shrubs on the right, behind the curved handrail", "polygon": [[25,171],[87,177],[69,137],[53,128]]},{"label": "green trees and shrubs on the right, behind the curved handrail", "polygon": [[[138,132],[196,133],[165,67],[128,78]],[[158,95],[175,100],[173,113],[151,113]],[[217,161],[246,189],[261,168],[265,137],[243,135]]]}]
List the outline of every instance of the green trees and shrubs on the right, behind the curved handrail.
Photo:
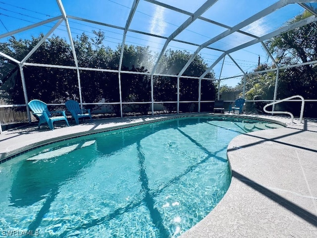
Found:
[{"label": "green trees and shrubs on the right, behind the curved handrail", "polygon": [[[305,11],[285,25],[300,21],[312,14]],[[264,42],[270,53],[275,56],[275,61],[279,66],[305,63],[317,60],[317,23],[310,23],[295,30],[282,33]],[[272,64],[260,64],[253,72],[275,68]],[[271,100],[274,95],[276,71],[251,74],[246,81],[247,100]],[[242,88],[243,78],[238,87]],[[296,67],[286,68],[279,71],[277,100],[294,95],[301,95],[305,99],[317,98],[317,67],[316,64],[306,64]],[[230,90],[227,88],[221,90]],[[253,110],[258,113],[263,112],[266,102],[257,102],[253,105]],[[294,115],[299,114],[300,106],[294,103],[278,104],[280,111],[289,111]],[[306,104],[304,116],[317,117],[317,105]]]}]

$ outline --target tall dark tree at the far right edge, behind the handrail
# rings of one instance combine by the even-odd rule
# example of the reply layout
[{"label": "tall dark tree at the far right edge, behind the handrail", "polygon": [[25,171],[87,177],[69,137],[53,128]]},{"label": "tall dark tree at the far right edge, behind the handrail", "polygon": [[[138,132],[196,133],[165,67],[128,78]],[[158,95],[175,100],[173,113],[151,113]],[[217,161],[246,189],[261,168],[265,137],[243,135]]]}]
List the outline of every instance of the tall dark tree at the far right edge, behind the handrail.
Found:
[{"label": "tall dark tree at the far right edge, behind the handrail", "polygon": [[[312,14],[305,11],[285,23],[292,24]],[[317,60],[317,23],[313,22],[295,30],[273,37],[264,43],[280,65],[305,63]],[[312,64],[282,70],[279,75],[277,98],[301,95],[305,99],[317,98],[317,68]],[[285,103],[288,110],[294,110]],[[292,103],[294,105],[294,103]],[[298,110],[296,110],[298,111]],[[316,117],[317,105],[306,104],[305,116]],[[298,113],[297,113],[298,114]]]}]

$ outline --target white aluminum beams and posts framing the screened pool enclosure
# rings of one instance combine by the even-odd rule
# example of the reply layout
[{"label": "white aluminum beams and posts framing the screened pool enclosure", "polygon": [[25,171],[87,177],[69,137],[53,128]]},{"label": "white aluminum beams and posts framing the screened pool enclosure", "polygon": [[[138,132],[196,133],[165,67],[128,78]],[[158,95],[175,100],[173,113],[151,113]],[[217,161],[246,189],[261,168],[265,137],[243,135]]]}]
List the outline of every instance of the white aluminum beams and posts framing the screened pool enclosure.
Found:
[{"label": "white aluminum beams and posts framing the screened pool enclosure", "polygon": [[[81,80],[80,80],[80,70],[93,70],[93,71],[105,71],[105,72],[115,72],[115,73],[118,73],[118,81],[119,81],[119,96],[120,96],[120,100],[119,102],[112,102],[112,103],[104,103],[104,104],[119,104],[120,105],[120,113],[121,113],[121,118],[123,117],[123,112],[122,112],[122,105],[123,104],[129,104],[129,103],[124,103],[122,102],[122,95],[121,95],[121,73],[130,73],[130,74],[145,74],[145,75],[149,75],[151,77],[151,101],[150,102],[132,102],[133,104],[144,104],[144,103],[149,103],[151,104],[151,108],[152,108],[152,115],[154,115],[154,104],[155,103],[164,103],[164,102],[155,102],[154,101],[154,95],[153,95],[153,76],[154,75],[158,75],[158,76],[169,76],[169,77],[177,77],[177,101],[176,102],[172,102],[172,103],[177,103],[177,114],[179,113],[179,103],[185,103],[185,102],[195,102],[195,103],[198,103],[198,112],[200,112],[200,104],[201,104],[201,80],[218,80],[219,82],[221,80],[224,80],[224,79],[228,79],[228,78],[224,78],[224,79],[215,79],[215,78],[206,78],[205,76],[213,69],[213,67],[222,59],[225,58],[225,56],[228,56],[236,65],[237,67],[241,70],[242,72],[242,76],[244,76],[244,89],[243,89],[243,97],[245,95],[245,83],[246,83],[246,76],[249,75],[249,74],[246,74],[242,68],[240,67],[240,65],[230,56],[231,53],[233,52],[236,52],[238,50],[241,50],[241,49],[244,49],[248,46],[251,46],[251,45],[254,45],[254,44],[257,44],[257,43],[261,43],[263,46],[263,41],[264,40],[267,40],[271,37],[274,37],[274,36],[277,36],[281,33],[284,33],[284,32],[288,32],[288,31],[291,31],[293,29],[296,29],[298,27],[301,27],[301,26],[304,26],[304,25],[307,25],[309,23],[312,23],[312,22],[316,22],[317,21],[317,13],[316,11],[311,8],[308,4],[306,3],[309,3],[309,2],[313,2],[313,0],[278,0],[277,2],[275,2],[274,4],[266,7],[264,10],[254,14],[253,16],[249,17],[248,19],[238,23],[237,25],[233,26],[233,27],[229,27],[229,26],[226,26],[224,24],[221,24],[219,22],[215,22],[213,20],[210,20],[210,19],[207,19],[205,17],[202,16],[202,14],[208,10],[210,7],[212,7],[213,4],[215,4],[218,0],[206,0],[205,3],[198,8],[198,10],[196,10],[194,13],[191,13],[191,12],[188,12],[188,11],[185,11],[185,10],[182,10],[182,9],[179,9],[179,8],[176,8],[176,7],[173,7],[173,6],[170,6],[168,4],[165,4],[165,3],[162,3],[162,2],[159,2],[157,0],[144,0],[144,1],[147,1],[147,2],[151,2],[153,4],[157,4],[157,5],[160,5],[162,7],[165,7],[165,8],[168,8],[170,10],[173,10],[173,11],[177,11],[177,12],[180,12],[180,13],[183,13],[183,14],[186,14],[186,15],[189,15],[189,18],[183,22],[183,24],[181,24],[169,37],[163,37],[163,36],[160,36],[160,35],[154,35],[154,34],[150,34],[150,33],[146,33],[146,32],[142,32],[142,31],[136,31],[136,30],[132,30],[132,29],[129,29],[130,27],[130,24],[131,24],[131,21],[133,19],[133,16],[134,16],[134,13],[136,12],[137,10],[137,7],[138,7],[138,4],[140,2],[140,0],[134,0],[133,1],[133,4],[131,6],[131,10],[130,10],[130,13],[129,13],[129,16],[127,18],[127,21],[126,21],[126,25],[124,28],[122,27],[119,27],[119,26],[114,26],[114,25],[110,25],[110,24],[106,24],[106,23],[103,23],[103,22],[96,22],[96,21],[92,21],[92,20],[89,20],[89,19],[84,19],[84,18],[80,18],[80,17],[76,17],[76,16],[70,16],[70,15],[67,15],[65,9],[64,9],[64,6],[62,4],[62,0],[56,0],[56,3],[59,7],[59,10],[60,10],[60,13],[61,15],[60,16],[56,16],[56,17],[53,17],[51,19],[48,19],[48,20],[45,20],[45,21],[42,21],[42,22],[39,22],[39,23],[36,23],[36,24],[32,24],[30,26],[27,26],[27,27],[23,27],[23,28],[20,28],[20,29],[17,29],[17,30],[14,30],[14,31],[11,31],[11,32],[8,32],[8,33],[5,33],[5,34],[1,34],[0,35],[0,39],[1,38],[4,38],[4,37],[7,37],[7,36],[11,36],[11,35],[14,35],[16,33],[19,33],[19,32],[23,32],[23,31],[26,31],[26,30],[29,30],[29,29],[32,29],[32,28],[35,28],[35,27],[38,27],[38,26],[41,26],[41,25],[44,25],[44,24],[47,24],[49,22],[53,22],[53,21],[56,21],[57,20],[57,23],[55,23],[55,25],[53,26],[53,28],[50,29],[50,31],[44,36],[44,38],[36,45],[36,47],[34,49],[32,49],[32,51],[30,51],[28,53],[28,55],[21,61],[19,60],[16,60],[2,52],[0,52],[0,56],[8,59],[8,60],[11,60],[13,62],[15,62],[16,64],[19,65],[19,69],[20,69],[20,73],[21,73],[21,80],[22,80],[22,85],[23,85],[23,92],[24,92],[24,98],[25,98],[25,105],[28,104],[28,97],[27,97],[27,92],[26,92],[26,87],[25,87],[25,80],[24,80],[24,73],[23,73],[23,67],[25,65],[32,65],[32,66],[40,66],[40,67],[56,67],[56,68],[69,68],[69,69],[76,69],[76,72],[77,72],[77,79],[78,79],[78,88],[79,88],[79,99],[80,99],[80,105],[81,107],[83,107],[83,101],[82,101],[82,94],[81,94]],[[247,32],[244,32],[242,31],[241,29],[244,28],[245,26],[255,22],[256,20],[259,20],[261,18],[263,18],[264,16],[272,13],[273,11],[277,10],[277,9],[280,9],[288,4],[299,4],[300,6],[302,6],[303,8],[305,8],[306,10],[310,11],[313,16],[311,17],[308,17],[306,19],[303,19],[301,21],[298,21],[298,22],[295,22],[293,24],[290,24],[288,26],[284,26],[284,27],[281,27],[279,28],[278,30],[275,30],[275,31],[272,31],[264,36],[256,36],[256,35],[253,35],[253,34],[250,34],[250,33],[247,33]],[[78,61],[77,61],[77,57],[76,57],[76,52],[75,52],[75,49],[74,49],[74,45],[73,45],[73,39],[72,39],[72,36],[71,36],[71,30],[70,30],[70,26],[69,26],[69,22],[68,22],[68,18],[71,18],[71,19],[76,19],[76,20],[79,20],[79,21],[84,21],[84,22],[90,22],[90,23],[94,23],[94,24],[99,24],[99,25],[103,25],[103,26],[107,26],[107,27],[113,27],[113,28],[116,28],[116,29],[121,29],[123,30],[123,38],[122,38],[122,47],[121,47],[121,52],[120,52],[120,60],[119,60],[119,67],[117,70],[112,70],[112,69],[100,69],[100,68],[85,68],[85,67],[80,67],[78,65]],[[195,43],[192,43],[192,42],[185,42],[185,41],[180,41],[180,40],[177,40],[175,39],[175,37],[180,34],[184,29],[186,29],[191,23],[193,23],[196,19],[201,19],[203,21],[207,21],[207,22],[210,22],[212,24],[215,24],[215,25],[218,25],[218,26],[221,26],[221,27],[224,27],[226,28],[227,30],[222,32],[221,34],[213,37],[212,39],[206,41],[205,43],[201,44],[201,45],[197,45]],[[68,33],[68,37],[69,37],[69,42],[70,42],[70,45],[71,45],[71,50],[72,50],[72,54],[73,54],[73,57],[74,57],[74,66],[63,66],[63,65],[51,65],[51,64],[41,64],[41,63],[29,63],[27,62],[27,59],[29,59],[30,56],[32,56],[32,54],[38,49],[38,47],[41,46],[41,44],[53,33],[53,31],[57,28],[57,26],[59,26],[62,22],[65,23],[65,26],[66,26],[66,30],[67,30],[67,33]],[[126,38],[126,34],[127,32],[130,31],[130,32],[135,32],[135,33],[140,33],[140,34],[144,34],[144,35],[149,35],[149,36],[155,36],[155,37],[159,37],[159,38],[162,38],[162,39],[165,39],[165,43],[164,43],[164,46],[162,48],[162,50],[160,51],[160,54],[159,54],[159,58],[158,60],[156,61],[155,65],[154,65],[154,68],[152,69],[151,72],[149,73],[138,73],[138,72],[131,72],[131,71],[123,71],[121,70],[121,66],[122,66],[122,60],[123,60],[123,53],[124,53],[124,45],[125,45],[125,38]],[[247,43],[244,43],[244,44],[241,44],[237,47],[234,47],[234,48],[231,48],[227,51],[223,51],[221,49],[216,49],[216,48],[212,48],[210,47],[210,45],[218,40],[221,40],[222,38],[226,37],[226,36],[229,36],[235,32],[238,32],[238,33],[241,33],[241,34],[244,34],[244,35],[247,35],[249,37],[252,37],[254,38],[254,40],[251,40]],[[197,50],[195,51],[195,53],[191,56],[190,60],[188,60],[188,62],[184,65],[184,67],[180,70],[180,72],[177,74],[177,75],[169,75],[169,74],[159,74],[159,73],[156,73],[156,69],[158,67],[158,64],[159,64],[159,60],[161,59],[162,55],[164,54],[165,50],[167,49],[167,46],[169,45],[170,42],[172,41],[176,41],[176,42],[181,42],[181,43],[186,43],[186,44],[189,44],[189,45],[193,45],[193,46],[197,46]],[[202,75],[197,75],[196,77],[188,77],[188,76],[183,76],[183,73],[185,72],[185,70],[188,68],[188,66],[190,65],[190,63],[195,59],[195,57],[201,52],[202,49],[212,49],[212,50],[216,50],[216,51],[219,51],[221,52],[222,54],[220,55],[220,57],[218,57],[211,65],[210,67],[202,74]],[[264,46],[265,48],[265,46]],[[277,82],[278,82],[278,72],[280,69],[282,68],[286,68],[286,67],[292,67],[292,66],[298,66],[298,65],[303,65],[303,64],[295,64],[295,65],[289,65],[289,66],[286,66],[286,67],[278,67],[278,65],[275,63],[273,57],[270,55],[270,53],[267,51],[266,49],[266,53],[267,55],[271,58],[272,62],[275,64],[276,66],[276,69],[273,69],[273,70],[276,70],[276,83],[275,83],[275,90],[274,90],[274,98],[273,98],[273,101],[276,100],[276,92],[277,92]],[[311,63],[316,63],[316,61],[312,61],[312,62],[308,62],[309,64]],[[306,63],[307,64],[307,63]],[[266,71],[266,70],[265,70]],[[267,70],[269,71],[269,70]],[[259,72],[257,72],[259,73]],[[237,77],[237,76],[235,76]],[[197,101],[182,101],[180,102],[179,100],[179,80],[180,78],[194,78],[194,79],[198,79],[199,80],[199,98]],[[218,97],[219,97],[219,91],[218,91]],[[90,104],[90,103],[87,103],[87,104]],[[91,104],[99,104],[99,103],[91,103]],[[8,105],[8,106],[12,106],[12,105]],[[29,117],[29,121],[31,121],[31,118],[30,118],[30,114],[29,114],[29,110],[28,110],[28,107],[27,108],[27,113],[28,113],[28,117]]]}]

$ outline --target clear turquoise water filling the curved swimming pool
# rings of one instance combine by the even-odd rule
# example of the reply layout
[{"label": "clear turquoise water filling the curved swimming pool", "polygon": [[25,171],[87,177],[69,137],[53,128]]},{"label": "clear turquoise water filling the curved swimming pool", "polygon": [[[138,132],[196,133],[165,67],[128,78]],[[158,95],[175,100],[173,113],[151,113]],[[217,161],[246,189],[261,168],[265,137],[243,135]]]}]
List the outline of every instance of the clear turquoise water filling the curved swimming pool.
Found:
[{"label": "clear turquoise water filling the curved swimming pool", "polygon": [[177,237],[227,191],[228,143],[274,127],[182,118],[32,150],[0,165],[0,236]]}]

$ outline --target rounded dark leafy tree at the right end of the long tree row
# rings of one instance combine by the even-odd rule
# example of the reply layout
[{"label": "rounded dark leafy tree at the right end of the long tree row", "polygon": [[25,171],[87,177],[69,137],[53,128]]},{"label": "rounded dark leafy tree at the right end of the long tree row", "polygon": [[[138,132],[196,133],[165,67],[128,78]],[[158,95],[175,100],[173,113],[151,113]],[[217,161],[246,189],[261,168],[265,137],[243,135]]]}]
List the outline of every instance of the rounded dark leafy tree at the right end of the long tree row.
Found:
[{"label": "rounded dark leafy tree at the right end of the long tree row", "polygon": [[[184,65],[191,58],[191,54],[187,51],[173,51],[167,50],[162,56],[157,72],[166,72],[166,74],[177,75]],[[201,56],[196,56],[188,68],[184,72],[184,76],[198,76],[202,75],[208,68]],[[213,72],[207,74],[206,77],[213,78]],[[205,81],[205,80],[203,80]],[[202,81],[202,82],[203,82]],[[155,95],[156,101],[176,101],[177,100],[177,77],[156,77],[155,80]],[[198,79],[180,78],[179,97],[180,101],[197,101],[199,95],[199,81]],[[215,97],[215,87],[211,80],[204,82],[202,87],[202,94],[205,100],[213,100]],[[212,98],[212,99],[210,99]],[[165,103],[164,106],[169,112],[176,111],[176,104]],[[197,104],[180,104],[180,111],[189,112],[198,110]]]}]

